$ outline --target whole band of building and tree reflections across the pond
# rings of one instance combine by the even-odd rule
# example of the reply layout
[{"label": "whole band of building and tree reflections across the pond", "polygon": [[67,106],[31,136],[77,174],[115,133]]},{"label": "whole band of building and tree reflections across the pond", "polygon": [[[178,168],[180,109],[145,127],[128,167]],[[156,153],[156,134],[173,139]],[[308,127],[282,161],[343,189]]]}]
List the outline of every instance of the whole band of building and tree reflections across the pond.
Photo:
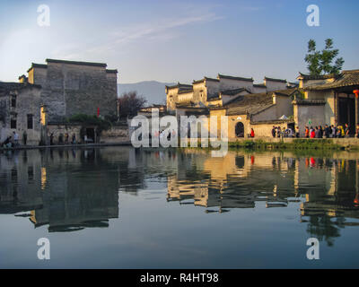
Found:
[{"label": "whole band of building and tree reflections across the pond", "polygon": [[0,213],[27,216],[50,232],[109,227],[119,218],[118,191],[141,196],[161,183],[167,195],[150,198],[205,213],[292,208],[311,237],[332,246],[346,226],[359,225],[357,158],[291,152],[213,158],[200,150],[129,147],[6,152],[0,155]]}]

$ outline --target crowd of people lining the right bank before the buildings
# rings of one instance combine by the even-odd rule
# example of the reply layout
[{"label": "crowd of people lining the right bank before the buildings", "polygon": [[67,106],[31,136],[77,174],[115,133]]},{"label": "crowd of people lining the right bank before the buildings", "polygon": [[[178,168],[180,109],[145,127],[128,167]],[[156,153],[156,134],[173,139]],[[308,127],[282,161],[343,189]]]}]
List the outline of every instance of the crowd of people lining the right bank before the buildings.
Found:
[{"label": "crowd of people lining the right bank before the buildings", "polygon": [[[301,137],[299,126],[295,126],[295,131],[291,127],[286,129],[280,126],[273,126],[273,137]],[[351,128],[348,124],[342,126],[325,125],[325,126],[305,126],[302,131],[302,137],[305,138],[344,138],[352,137]],[[355,137],[359,138],[359,124],[355,128]]]}]

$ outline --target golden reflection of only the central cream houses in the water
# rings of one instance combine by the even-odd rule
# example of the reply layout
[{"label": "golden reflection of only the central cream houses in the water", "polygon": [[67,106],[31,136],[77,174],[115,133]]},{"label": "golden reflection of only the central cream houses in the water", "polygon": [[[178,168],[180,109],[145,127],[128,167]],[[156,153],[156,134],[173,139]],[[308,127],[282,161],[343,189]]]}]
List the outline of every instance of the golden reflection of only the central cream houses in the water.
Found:
[{"label": "golden reflection of only the central cream houses in the water", "polygon": [[[228,152],[223,158],[202,159],[203,162],[196,162],[200,170],[193,170],[193,162],[188,165],[192,169],[188,173],[182,170],[181,175],[168,178],[169,201],[218,207],[223,212],[227,208],[254,208],[263,201],[267,207],[282,207],[290,202],[288,197],[295,196],[294,165],[282,161],[279,153],[277,158],[259,155],[257,160],[254,155],[235,152]],[[286,171],[288,178],[281,178],[278,170]],[[200,181],[190,179],[197,178],[195,172],[202,175]]]}]

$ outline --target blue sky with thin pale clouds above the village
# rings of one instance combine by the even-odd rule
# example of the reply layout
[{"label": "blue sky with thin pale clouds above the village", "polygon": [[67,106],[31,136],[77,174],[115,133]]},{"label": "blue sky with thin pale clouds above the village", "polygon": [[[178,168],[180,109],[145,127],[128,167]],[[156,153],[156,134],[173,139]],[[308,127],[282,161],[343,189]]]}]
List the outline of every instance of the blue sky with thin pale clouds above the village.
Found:
[{"label": "blue sky with thin pale clouds above the village", "polygon": [[[40,4],[49,26],[39,26]],[[317,4],[320,26],[308,26]],[[0,81],[46,58],[107,63],[118,83],[191,83],[217,74],[295,81],[309,39],[332,38],[345,70],[359,68],[359,1],[0,1]]]}]

